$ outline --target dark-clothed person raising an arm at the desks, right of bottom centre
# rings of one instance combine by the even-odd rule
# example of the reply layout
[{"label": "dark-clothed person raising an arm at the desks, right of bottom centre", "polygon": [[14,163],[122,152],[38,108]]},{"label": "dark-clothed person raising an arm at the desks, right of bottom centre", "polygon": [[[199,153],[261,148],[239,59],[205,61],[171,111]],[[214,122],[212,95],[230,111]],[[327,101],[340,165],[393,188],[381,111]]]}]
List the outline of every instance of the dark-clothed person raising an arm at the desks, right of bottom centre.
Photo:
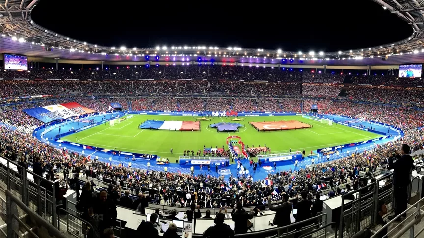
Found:
[{"label": "dark-clothed person raising an arm at the desks, right of bottom centre", "polygon": [[[287,225],[290,225],[291,223],[290,214],[291,214],[291,210],[293,209],[293,204],[289,202],[288,194],[285,193],[283,194],[282,197],[283,197],[283,203],[277,204],[277,205],[272,205],[271,204],[272,197],[271,196],[268,197],[269,210],[276,212],[272,223],[274,225],[277,225],[277,227],[287,226]],[[282,234],[282,231],[278,230],[278,236],[280,236],[280,234]]]}]

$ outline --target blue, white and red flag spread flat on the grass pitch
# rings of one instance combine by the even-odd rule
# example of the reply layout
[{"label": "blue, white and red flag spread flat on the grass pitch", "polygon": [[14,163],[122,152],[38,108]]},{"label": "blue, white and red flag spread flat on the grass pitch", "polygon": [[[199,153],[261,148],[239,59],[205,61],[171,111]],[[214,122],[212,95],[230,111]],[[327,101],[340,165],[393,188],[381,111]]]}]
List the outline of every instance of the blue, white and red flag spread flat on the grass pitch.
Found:
[{"label": "blue, white and red flag spread flat on the grass pitch", "polygon": [[140,125],[140,129],[157,129],[157,130],[181,130],[181,131],[198,131],[200,130],[199,121],[163,121],[163,120],[146,120]]}]

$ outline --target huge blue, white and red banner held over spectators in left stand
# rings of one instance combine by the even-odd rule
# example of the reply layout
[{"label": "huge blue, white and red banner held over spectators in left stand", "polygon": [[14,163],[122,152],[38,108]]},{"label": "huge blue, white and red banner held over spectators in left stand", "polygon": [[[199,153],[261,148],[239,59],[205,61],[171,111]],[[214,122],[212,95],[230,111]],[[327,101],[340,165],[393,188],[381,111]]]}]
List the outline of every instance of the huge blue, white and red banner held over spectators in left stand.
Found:
[{"label": "huge blue, white and red banner held over spectators in left stand", "polygon": [[76,102],[62,103],[45,107],[35,107],[24,109],[29,116],[43,121],[44,123],[53,120],[67,119],[86,113],[92,113],[93,110],[79,105]]}]

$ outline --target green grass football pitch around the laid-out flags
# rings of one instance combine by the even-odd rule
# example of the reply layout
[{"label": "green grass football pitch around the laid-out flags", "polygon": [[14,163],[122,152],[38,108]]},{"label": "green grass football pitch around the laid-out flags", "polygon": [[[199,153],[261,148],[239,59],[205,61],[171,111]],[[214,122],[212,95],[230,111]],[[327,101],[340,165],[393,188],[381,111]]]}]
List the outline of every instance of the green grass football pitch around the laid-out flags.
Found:
[{"label": "green grass football pitch around the laid-out flags", "polygon": [[[240,128],[240,132],[230,133],[218,133],[216,129],[208,128],[209,124],[222,121],[232,122],[225,117],[215,117],[211,121],[202,121],[200,123],[201,131],[139,129],[138,126],[145,120],[193,121],[194,118],[190,116],[134,115],[134,117],[114,126],[109,126],[109,122],[107,122],[106,124],[63,137],[62,140],[125,152],[156,154],[175,162],[175,159],[183,155],[184,150],[203,150],[204,145],[207,148],[215,148],[216,146],[222,148],[224,146],[224,148],[228,149],[225,143],[229,135],[240,136],[242,141],[249,147],[264,146],[266,144],[271,149],[271,153],[288,152],[291,148],[299,151],[305,149],[306,154],[319,148],[360,142],[381,136],[336,123],[333,123],[333,125],[324,124],[302,116],[246,117],[244,121],[239,122],[245,127]],[[249,125],[249,121],[280,120],[298,120],[311,124],[313,127],[263,132],[257,131]],[[173,149],[173,154],[170,153],[171,148]]]}]

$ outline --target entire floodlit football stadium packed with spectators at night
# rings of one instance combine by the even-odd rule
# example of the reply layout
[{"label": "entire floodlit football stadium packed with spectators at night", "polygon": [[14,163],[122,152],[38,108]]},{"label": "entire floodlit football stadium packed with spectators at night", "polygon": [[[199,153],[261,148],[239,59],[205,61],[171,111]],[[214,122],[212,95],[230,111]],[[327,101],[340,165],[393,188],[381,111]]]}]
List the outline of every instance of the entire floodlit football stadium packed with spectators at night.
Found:
[{"label": "entire floodlit football stadium packed with spectators at night", "polygon": [[1,238],[423,237],[423,0],[358,2],[411,33],[322,51],[90,36],[80,3],[0,2]]}]

